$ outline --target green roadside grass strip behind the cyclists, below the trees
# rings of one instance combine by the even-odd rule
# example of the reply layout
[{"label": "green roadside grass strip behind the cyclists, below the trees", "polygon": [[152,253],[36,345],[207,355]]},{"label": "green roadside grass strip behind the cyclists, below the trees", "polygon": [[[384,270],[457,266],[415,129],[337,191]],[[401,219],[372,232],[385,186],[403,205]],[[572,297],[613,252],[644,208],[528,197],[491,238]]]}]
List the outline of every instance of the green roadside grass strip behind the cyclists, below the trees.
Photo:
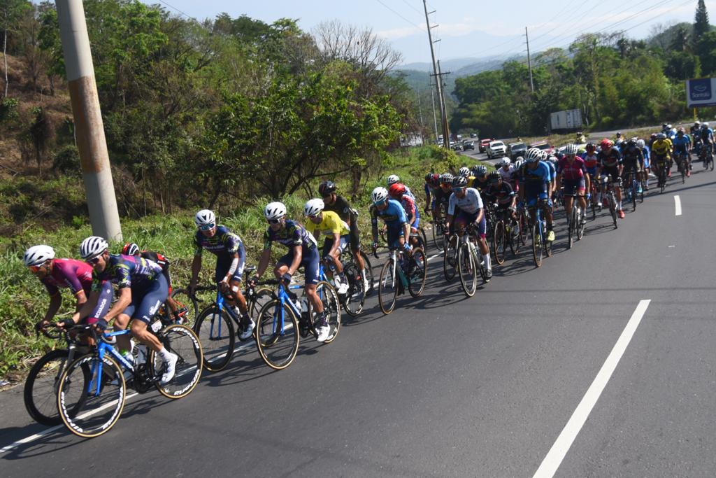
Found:
[{"label": "green roadside grass strip behind the cyclists, below the trees", "polygon": [[[359,211],[358,221],[364,244],[371,241],[370,220],[367,214],[370,193],[376,186],[385,186],[388,175],[397,174],[411,187],[422,209],[425,204],[422,184],[429,171],[455,173],[464,156],[435,146],[410,148],[392,154],[384,161],[384,171],[370,176],[364,190],[352,201]],[[485,163],[485,166],[490,166]],[[491,166],[490,166],[491,167]],[[339,192],[346,190],[347,180],[338,179]],[[2,191],[11,195],[9,190]],[[308,198],[302,194],[289,196],[282,201],[286,204],[292,218],[303,220],[303,206]],[[233,211],[232,214],[219,216],[220,224],[235,231],[246,247],[247,264],[256,264],[261,253],[263,232],[266,222],[263,219],[263,205],[268,198],[258,199],[256,207]],[[199,208],[197,208],[199,209]],[[175,287],[188,284],[190,264],[193,259],[193,234],[195,211],[178,211],[171,215],[146,216],[142,219],[123,219],[122,233],[125,242],[136,242],[140,248],[165,254],[172,262],[171,274]],[[26,369],[34,358],[47,352],[54,343],[46,338],[36,338],[34,324],[41,320],[47,311],[49,297],[44,287],[22,263],[22,254],[34,244],[49,244],[54,247],[57,257],[77,257],[77,249],[82,239],[92,234],[87,219],[74,217],[71,224],[59,226],[54,230],[45,230],[39,224],[26,225],[21,234],[0,237],[0,316],[4,321],[0,325],[0,378],[11,382],[24,379]],[[118,252],[122,244],[112,244],[111,249]],[[274,248],[274,253],[284,254],[283,247]],[[213,254],[203,254],[201,279],[211,283],[214,267]],[[74,299],[62,290],[63,316],[69,315],[74,307]]]}]

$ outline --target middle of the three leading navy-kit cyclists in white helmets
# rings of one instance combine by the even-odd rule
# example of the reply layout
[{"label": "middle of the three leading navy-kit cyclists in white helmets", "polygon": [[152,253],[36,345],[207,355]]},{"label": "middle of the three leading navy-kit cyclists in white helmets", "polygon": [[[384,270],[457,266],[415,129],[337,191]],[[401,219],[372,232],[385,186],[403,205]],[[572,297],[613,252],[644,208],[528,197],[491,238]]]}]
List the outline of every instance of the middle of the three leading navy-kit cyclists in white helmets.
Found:
[{"label": "middle of the three leading navy-kit cyclists in white helmets", "polygon": [[216,255],[214,281],[226,295],[226,302],[233,307],[236,316],[240,317],[241,329],[238,338],[246,340],[251,337],[256,324],[248,317],[246,297],[241,292],[243,267],[246,263],[246,249],[241,238],[226,226],[216,224],[216,214],[209,209],[202,209],[194,216],[196,233],[194,234],[194,259],[191,262],[191,280],[189,293],[193,295],[201,271],[201,253],[204,249]]}]

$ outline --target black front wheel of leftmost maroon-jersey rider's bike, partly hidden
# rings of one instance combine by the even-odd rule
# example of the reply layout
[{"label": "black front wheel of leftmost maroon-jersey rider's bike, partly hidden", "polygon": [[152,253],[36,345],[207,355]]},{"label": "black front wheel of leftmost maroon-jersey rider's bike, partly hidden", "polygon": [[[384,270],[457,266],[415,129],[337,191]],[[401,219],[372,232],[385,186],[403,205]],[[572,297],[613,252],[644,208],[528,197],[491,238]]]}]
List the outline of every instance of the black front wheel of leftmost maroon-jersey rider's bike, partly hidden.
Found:
[{"label": "black front wheel of leftmost maroon-jersey rider's bike, partly hidden", "polygon": [[[50,350],[32,365],[25,379],[24,401],[27,413],[34,421],[47,426],[59,425],[62,419],[57,411],[57,386],[59,378],[67,365],[69,350]],[[70,414],[74,415],[82,402],[74,405]]]}]

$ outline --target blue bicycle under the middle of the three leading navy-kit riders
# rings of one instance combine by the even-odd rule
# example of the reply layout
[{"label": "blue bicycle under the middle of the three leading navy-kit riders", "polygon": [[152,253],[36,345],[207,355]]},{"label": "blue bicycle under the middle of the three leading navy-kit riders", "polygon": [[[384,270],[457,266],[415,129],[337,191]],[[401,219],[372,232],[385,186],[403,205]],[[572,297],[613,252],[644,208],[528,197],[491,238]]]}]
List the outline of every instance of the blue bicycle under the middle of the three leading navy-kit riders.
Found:
[{"label": "blue bicycle under the middle of the three leading navy-kit riders", "polygon": [[[253,272],[256,267],[247,267],[245,270],[247,273]],[[278,281],[274,279],[258,282],[257,285],[276,284]],[[229,307],[225,303],[227,295],[221,292],[218,285],[195,288],[197,292],[203,290],[216,291],[216,299],[196,317],[193,330],[204,350],[203,367],[209,372],[218,372],[231,361],[235,352],[236,337],[243,332],[244,326],[241,324],[241,317],[236,315],[233,307]],[[228,296],[231,297],[231,295]],[[244,297],[246,297],[249,317],[256,322],[258,315],[255,310],[276,297],[276,294],[269,287],[261,287],[256,290],[256,287],[246,281]],[[236,324],[236,330],[234,324]]]}]

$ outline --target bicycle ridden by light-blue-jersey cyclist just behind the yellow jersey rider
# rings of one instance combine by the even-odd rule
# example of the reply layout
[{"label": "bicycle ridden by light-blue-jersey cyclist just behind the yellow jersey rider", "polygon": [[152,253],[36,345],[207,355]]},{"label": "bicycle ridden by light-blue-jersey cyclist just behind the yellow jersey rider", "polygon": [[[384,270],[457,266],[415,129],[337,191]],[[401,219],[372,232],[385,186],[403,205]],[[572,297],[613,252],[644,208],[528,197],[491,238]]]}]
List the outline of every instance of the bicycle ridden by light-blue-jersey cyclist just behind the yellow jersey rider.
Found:
[{"label": "bicycle ridden by light-blue-jersey cyclist just behind the yellow jersey rider", "polygon": [[420,247],[414,247],[407,259],[402,250],[390,249],[390,256],[380,269],[378,282],[378,304],[384,314],[395,309],[398,295],[405,294],[405,288],[412,297],[420,297],[427,280],[427,258]]}]

